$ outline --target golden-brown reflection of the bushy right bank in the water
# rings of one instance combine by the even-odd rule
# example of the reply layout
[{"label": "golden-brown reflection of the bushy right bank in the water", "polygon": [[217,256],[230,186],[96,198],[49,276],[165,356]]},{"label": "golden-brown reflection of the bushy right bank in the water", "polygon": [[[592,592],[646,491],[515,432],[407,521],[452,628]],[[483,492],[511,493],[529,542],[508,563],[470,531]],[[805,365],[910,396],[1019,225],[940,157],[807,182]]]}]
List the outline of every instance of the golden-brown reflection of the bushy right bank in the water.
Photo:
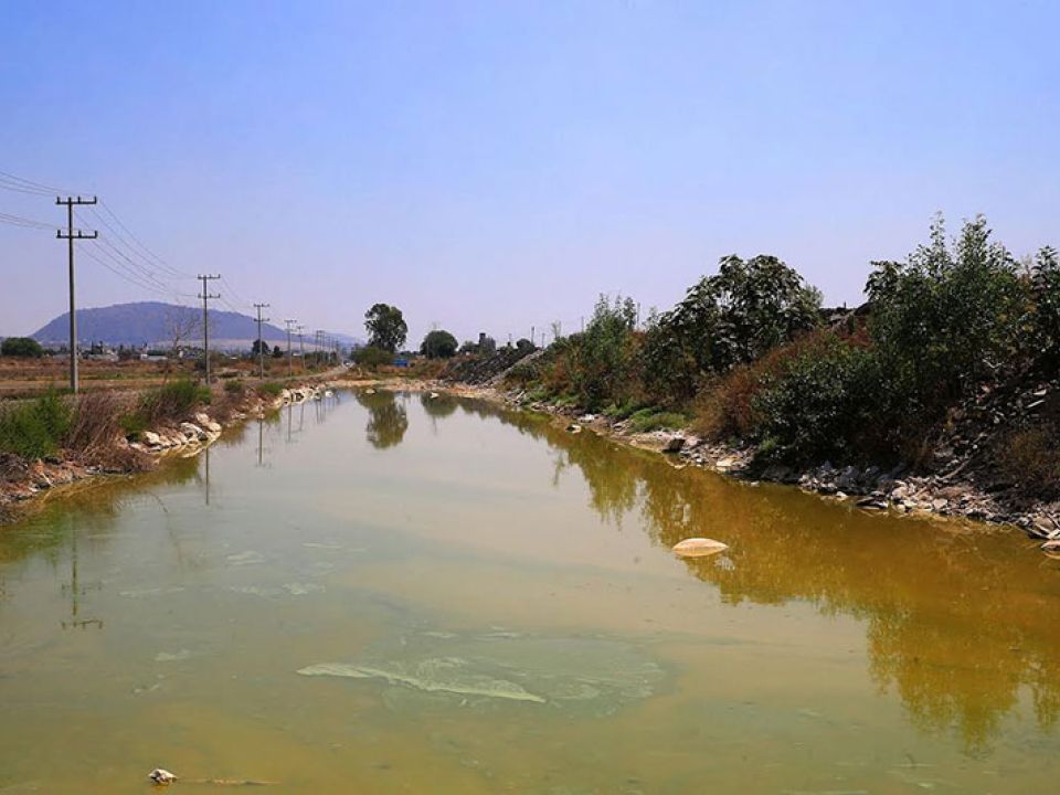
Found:
[{"label": "golden-brown reflection of the bushy right bank in the water", "polygon": [[556,453],[556,475],[576,469],[605,520],[642,524],[671,547],[706,536],[721,558],[686,562],[722,600],[783,604],[866,622],[870,674],[893,689],[919,727],[956,729],[971,753],[989,749],[1021,688],[1037,722],[1060,716],[1058,570],[1019,538],[872,516],[773,486],[734,485],[658,456],[615,449],[548,421],[475,403]]}]

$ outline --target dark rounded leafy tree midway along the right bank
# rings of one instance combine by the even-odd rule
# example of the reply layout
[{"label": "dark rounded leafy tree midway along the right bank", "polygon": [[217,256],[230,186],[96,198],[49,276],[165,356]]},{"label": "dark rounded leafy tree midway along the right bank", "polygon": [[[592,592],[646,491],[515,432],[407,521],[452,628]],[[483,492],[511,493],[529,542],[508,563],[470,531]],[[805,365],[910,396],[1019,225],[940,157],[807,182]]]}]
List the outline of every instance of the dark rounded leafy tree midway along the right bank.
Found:
[{"label": "dark rounded leafy tree midway along the right bank", "polygon": [[708,373],[723,373],[819,324],[820,293],[774,256],[721,259],[716,276],[653,324],[645,340],[645,385],[674,403],[690,399]]}]

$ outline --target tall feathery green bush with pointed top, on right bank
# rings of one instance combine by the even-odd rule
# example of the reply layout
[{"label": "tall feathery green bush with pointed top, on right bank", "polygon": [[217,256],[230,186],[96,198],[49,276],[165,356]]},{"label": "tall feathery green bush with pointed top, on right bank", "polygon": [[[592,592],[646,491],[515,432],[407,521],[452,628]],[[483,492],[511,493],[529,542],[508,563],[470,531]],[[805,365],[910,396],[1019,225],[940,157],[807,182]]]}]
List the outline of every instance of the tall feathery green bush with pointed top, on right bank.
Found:
[{"label": "tall feathery green bush with pointed top, on right bank", "polygon": [[1025,283],[1013,256],[989,237],[979,216],[965,223],[951,248],[936,216],[929,244],[905,263],[875,263],[869,277],[872,339],[888,378],[925,418],[1018,361],[1027,337]]}]

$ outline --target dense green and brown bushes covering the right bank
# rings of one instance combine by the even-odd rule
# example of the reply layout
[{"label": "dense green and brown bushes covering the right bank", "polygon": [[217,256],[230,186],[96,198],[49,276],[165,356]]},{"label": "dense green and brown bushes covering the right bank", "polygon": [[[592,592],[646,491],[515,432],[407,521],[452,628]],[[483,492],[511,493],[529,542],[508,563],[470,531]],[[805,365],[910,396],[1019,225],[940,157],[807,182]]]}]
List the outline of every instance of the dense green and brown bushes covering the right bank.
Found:
[{"label": "dense green and brown bushes covering the right bank", "polygon": [[[584,332],[510,380],[537,399],[639,417],[637,430],[688,417],[764,462],[915,464],[983,390],[1060,374],[1060,257],[1046,247],[1017,261],[982,216],[954,241],[937,218],[904,262],[872,263],[866,295],[829,314],[776,257],[729,256],[643,329],[632,300],[602,297]],[[1056,480],[1058,456],[1030,451],[1060,447],[1058,421],[1036,415],[998,459],[1034,458]]]}]

